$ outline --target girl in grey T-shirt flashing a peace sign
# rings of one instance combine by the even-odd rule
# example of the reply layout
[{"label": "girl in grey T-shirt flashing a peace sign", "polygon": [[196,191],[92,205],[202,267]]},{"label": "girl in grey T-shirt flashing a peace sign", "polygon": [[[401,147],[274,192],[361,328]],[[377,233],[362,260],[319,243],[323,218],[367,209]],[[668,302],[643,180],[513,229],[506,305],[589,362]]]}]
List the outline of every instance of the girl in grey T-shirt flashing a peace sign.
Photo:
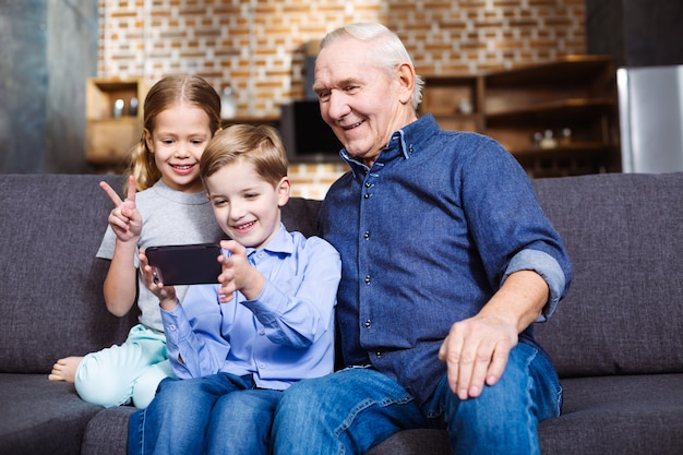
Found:
[{"label": "girl in grey T-shirt flashing a peace sign", "polygon": [[[49,379],[73,382],[86,402],[111,407],[132,400],[144,408],[158,383],[173,376],[158,299],[137,276],[137,250],[223,238],[199,170],[200,157],[219,129],[220,98],[206,81],[165,77],[145,98],[143,136],[131,159],[127,199],[121,201],[107,183],[100,183],[115,204],[97,252],[98,258],[111,260],[105,302],[112,314],[121,316],[137,297],[141,315],[122,345],[55,363]],[[178,290],[184,295],[187,287]]]}]

